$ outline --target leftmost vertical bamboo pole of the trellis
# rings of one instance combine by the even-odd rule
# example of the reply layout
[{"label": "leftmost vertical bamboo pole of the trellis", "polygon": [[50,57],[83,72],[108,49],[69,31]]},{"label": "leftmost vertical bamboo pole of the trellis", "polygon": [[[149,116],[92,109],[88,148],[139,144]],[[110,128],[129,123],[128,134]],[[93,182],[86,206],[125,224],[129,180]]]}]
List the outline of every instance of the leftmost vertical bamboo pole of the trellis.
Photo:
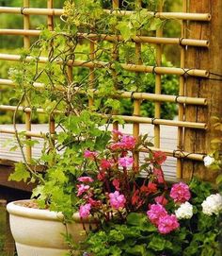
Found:
[{"label": "leftmost vertical bamboo pole of the trellis", "polygon": [[[24,8],[29,8],[29,0],[24,0]],[[30,28],[30,19],[29,15],[24,15],[24,29]],[[24,49],[29,49],[30,47],[30,38],[29,36],[24,36]],[[25,100],[25,106],[28,107],[28,102]],[[25,130],[31,130],[31,113],[25,112]],[[30,140],[30,136],[26,136],[26,140]],[[30,145],[26,145],[25,147],[26,153],[26,161],[31,162],[32,158],[32,147]]]}]

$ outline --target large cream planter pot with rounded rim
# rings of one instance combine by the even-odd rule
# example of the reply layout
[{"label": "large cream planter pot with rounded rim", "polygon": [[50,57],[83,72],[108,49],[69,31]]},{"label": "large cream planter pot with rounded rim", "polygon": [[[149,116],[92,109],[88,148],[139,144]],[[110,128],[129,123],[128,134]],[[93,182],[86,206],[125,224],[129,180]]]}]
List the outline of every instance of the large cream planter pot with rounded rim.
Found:
[{"label": "large cream planter pot with rounded rim", "polygon": [[[64,256],[68,246],[62,234],[66,227],[62,223],[61,213],[27,208],[20,200],[8,203],[9,223],[14,237],[18,256]],[[79,214],[73,214],[74,222],[68,224],[73,241],[79,243],[85,238],[85,230]],[[89,221],[85,227],[89,229]]]}]

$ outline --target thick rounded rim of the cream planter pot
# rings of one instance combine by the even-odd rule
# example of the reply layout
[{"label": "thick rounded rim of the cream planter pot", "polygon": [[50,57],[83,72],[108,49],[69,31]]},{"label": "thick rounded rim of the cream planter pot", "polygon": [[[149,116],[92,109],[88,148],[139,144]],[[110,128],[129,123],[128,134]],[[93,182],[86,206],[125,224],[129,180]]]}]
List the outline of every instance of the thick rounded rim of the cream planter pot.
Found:
[{"label": "thick rounded rim of the cream planter pot", "polygon": [[[38,218],[38,219],[45,219],[45,220],[56,220],[62,221],[64,216],[62,213],[56,213],[54,211],[44,210],[44,209],[36,209],[36,208],[29,208],[25,207],[21,204],[30,202],[29,200],[18,200],[8,203],[7,211],[9,214],[24,216],[28,218]],[[75,222],[92,222],[91,218],[87,218],[82,220],[79,216],[79,213],[73,213],[73,220]]]}]

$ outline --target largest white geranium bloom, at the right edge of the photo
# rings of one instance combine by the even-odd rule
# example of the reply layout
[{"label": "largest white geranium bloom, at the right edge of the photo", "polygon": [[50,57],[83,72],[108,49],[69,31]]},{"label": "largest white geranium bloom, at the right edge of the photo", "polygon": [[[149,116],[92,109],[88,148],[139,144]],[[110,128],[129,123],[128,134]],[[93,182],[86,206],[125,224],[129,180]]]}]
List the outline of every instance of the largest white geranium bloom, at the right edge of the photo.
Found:
[{"label": "largest white geranium bloom, at the right edge of the photo", "polygon": [[222,211],[222,196],[218,193],[208,196],[201,206],[203,213],[206,215],[219,214]]}]

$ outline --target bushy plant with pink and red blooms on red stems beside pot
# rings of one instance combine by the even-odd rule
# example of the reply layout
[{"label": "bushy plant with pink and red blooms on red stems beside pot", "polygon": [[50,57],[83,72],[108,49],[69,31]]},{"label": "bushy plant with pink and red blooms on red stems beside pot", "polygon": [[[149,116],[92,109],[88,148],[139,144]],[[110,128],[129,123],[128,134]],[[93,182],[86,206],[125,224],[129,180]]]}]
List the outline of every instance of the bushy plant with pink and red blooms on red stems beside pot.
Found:
[{"label": "bushy plant with pink and red blooms on red stems beside pot", "polygon": [[[83,152],[85,175],[79,177],[76,184],[82,218],[99,214],[99,217],[110,220],[117,215],[115,212],[124,218],[130,212],[146,209],[151,197],[157,203],[167,203],[160,192],[160,186],[166,183],[160,163],[166,160],[166,155],[150,150],[149,164],[138,170],[134,160],[135,148],[144,141],[118,130],[113,130],[113,135],[114,140],[103,152],[89,149]],[[147,179],[139,183],[136,179],[141,171],[147,173]],[[158,195],[153,196],[155,194]]]}]

